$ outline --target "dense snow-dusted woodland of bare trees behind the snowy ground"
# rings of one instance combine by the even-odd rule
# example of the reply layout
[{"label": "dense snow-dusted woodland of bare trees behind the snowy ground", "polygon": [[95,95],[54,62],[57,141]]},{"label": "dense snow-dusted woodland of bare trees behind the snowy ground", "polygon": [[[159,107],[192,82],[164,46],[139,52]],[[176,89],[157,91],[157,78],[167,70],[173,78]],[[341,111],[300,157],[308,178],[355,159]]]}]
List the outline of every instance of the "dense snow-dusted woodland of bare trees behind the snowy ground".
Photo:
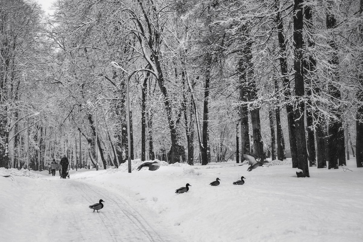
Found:
[{"label": "dense snow-dusted woodland of bare trees behind the snowy ground", "polygon": [[[0,166],[363,166],[363,0],[0,0]],[[40,114],[31,116],[34,113]],[[95,114],[97,113],[97,122]],[[29,118],[28,118],[29,117]],[[355,150],[356,149],[356,150]],[[355,152],[354,152],[355,151]]]}]

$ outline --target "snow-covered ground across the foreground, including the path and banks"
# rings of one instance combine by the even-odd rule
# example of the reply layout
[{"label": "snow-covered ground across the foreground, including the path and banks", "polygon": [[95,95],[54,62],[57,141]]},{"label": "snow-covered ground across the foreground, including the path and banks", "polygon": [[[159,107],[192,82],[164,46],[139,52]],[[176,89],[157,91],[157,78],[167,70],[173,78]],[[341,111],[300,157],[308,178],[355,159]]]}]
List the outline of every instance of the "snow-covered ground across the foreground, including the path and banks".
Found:
[{"label": "snow-covered ground across the foreground, including the path and banks", "polygon": [[[48,172],[0,169],[0,241],[363,241],[363,169],[310,168],[290,162],[246,172],[232,162]],[[58,172],[56,173],[58,174]],[[232,182],[244,176],[245,184]],[[208,184],[220,178],[216,187]],[[186,183],[189,191],[175,194]],[[103,199],[93,213],[88,206]]]}]

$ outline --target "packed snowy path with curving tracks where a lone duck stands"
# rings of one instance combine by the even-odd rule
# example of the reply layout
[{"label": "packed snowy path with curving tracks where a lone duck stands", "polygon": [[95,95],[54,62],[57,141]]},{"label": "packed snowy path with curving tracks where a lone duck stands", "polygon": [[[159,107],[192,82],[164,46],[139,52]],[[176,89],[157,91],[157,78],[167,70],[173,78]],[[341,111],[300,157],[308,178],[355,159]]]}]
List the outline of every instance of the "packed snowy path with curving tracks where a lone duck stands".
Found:
[{"label": "packed snowy path with curving tracks where a lone duck stands", "polygon": [[[160,225],[151,225],[124,198],[111,191],[80,180],[61,180],[59,176],[49,179],[17,177],[19,179],[28,179],[28,187],[17,187],[19,191],[15,201],[10,204],[17,213],[7,217],[5,211],[0,215],[2,221],[7,221],[6,226],[1,226],[5,228],[5,233],[1,233],[0,241],[4,241],[2,236],[17,242],[179,240],[164,238],[169,236],[164,229],[154,229],[154,226]],[[8,195],[9,199],[14,200],[14,194]],[[21,202],[16,202],[16,199]],[[99,213],[93,213],[88,206],[99,199],[106,201],[105,207]],[[157,230],[164,235],[159,235]]]}]

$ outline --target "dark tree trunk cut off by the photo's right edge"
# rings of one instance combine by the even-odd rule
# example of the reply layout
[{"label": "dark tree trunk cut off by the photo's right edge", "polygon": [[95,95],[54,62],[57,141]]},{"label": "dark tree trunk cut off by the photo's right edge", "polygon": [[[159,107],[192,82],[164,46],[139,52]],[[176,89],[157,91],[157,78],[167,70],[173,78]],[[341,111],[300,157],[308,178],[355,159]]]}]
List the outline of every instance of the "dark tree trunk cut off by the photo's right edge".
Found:
[{"label": "dark tree trunk cut off by the photo's right edge", "polygon": [[[363,0],[360,0],[359,5],[359,13],[360,16],[363,14]],[[363,43],[363,26],[359,26],[360,30],[360,42]],[[360,53],[360,68],[363,67],[362,61],[362,53]],[[356,142],[355,142],[355,149],[356,149],[356,162],[357,167],[363,167],[363,75],[359,75],[359,87],[356,93],[357,99],[359,101],[358,110],[356,114]],[[353,146],[351,145],[352,150]],[[354,156],[354,151],[353,151]]]}]

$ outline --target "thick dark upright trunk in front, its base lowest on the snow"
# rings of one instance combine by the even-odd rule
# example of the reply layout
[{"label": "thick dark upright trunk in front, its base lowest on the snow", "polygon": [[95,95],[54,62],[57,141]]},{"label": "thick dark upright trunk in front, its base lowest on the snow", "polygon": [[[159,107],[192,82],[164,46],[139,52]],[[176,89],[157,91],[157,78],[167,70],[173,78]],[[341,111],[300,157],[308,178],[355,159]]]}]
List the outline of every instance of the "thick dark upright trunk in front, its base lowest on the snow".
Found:
[{"label": "thick dark upright trunk in front, its base lowest on the snow", "polygon": [[305,104],[303,96],[305,95],[304,89],[304,66],[303,66],[303,0],[294,0],[293,10],[294,20],[294,77],[295,77],[295,96],[297,97],[297,105],[295,110],[295,135],[296,145],[299,147],[297,150],[298,168],[300,171],[296,172],[297,177],[309,177],[309,165],[307,161],[306,150],[306,137],[305,137],[305,124],[304,112]]}]

